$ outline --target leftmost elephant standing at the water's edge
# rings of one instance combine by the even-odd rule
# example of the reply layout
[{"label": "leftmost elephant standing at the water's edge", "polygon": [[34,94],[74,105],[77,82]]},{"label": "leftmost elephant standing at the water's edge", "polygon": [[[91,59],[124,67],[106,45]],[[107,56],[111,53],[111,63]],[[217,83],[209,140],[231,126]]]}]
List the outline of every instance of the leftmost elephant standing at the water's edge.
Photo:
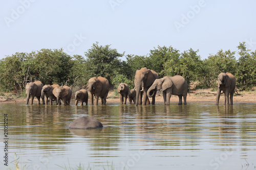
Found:
[{"label": "leftmost elephant standing at the water's edge", "polygon": [[[42,90],[42,83],[40,81],[37,80],[35,82],[27,83],[27,85],[26,85],[26,94],[27,94],[26,105],[29,104],[30,96],[31,96],[31,102],[30,102],[31,105],[33,105],[35,96],[38,100],[37,104],[40,105],[41,90]],[[42,104],[45,104],[44,99],[42,99]]]}]

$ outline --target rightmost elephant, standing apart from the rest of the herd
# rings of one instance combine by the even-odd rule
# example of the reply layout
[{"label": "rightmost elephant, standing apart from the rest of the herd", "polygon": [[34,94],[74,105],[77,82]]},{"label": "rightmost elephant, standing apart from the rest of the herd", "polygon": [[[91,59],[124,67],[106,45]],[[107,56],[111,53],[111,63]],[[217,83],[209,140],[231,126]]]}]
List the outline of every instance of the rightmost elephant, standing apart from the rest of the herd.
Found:
[{"label": "rightmost elephant, standing apart from the rest of the herd", "polygon": [[[236,88],[236,78],[229,72],[221,72],[218,76],[218,90],[216,97],[216,105],[219,105],[221,91],[225,93],[224,105],[229,105],[228,96],[230,93],[230,105],[233,104],[233,94]],[[227,102],[226,102],[227,101]]]}]

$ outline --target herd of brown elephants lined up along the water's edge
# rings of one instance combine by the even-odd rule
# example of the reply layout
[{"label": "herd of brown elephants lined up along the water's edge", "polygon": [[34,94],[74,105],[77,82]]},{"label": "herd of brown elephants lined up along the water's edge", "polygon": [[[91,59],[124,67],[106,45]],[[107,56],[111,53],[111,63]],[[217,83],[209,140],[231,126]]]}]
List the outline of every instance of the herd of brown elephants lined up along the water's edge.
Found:
[{"label": "herd of brown elephants lined up along the water's edge", "polygon": [[[146,67],[136,71],[134,78],[134,89],[129,89],[126,83],[120,83],[118,86],[119,99],[121,104],[126,104],[126,100],[129,97],[130,104],[134,103],[138,105],[148,105],[152,98],[152,104],[155,104],[155,96],[157,90],[162,90],[164,105],[170,104],[170,97],[173,95],[179,96],[179,105],[182,104],[182,96],[184,105],[186,105],[186,97],[188,84],[182,76],[168,77],[165,76],[159,79],[157,72]],[[216,105],[219,104],[220,93],[225,93],[224,104],[233,104],[233,93],[236,87],[236,78],[229,72],[221,73],[218,76],[218,90]],[[101,98],[101,105],[106,104],[106,97],[108,96],[110,89],[109,81],[103,77],[94,77],[89,79],[87,89],[81,89],[75,93],[75,105],[80,101],[81,105],[86,103],[88,105],[88,96],[90,94],[91,105],[93,105],[93,97],[95,96],[95,105],[98,105],[98,99]],[[70,105],[72,96],[72,89],[69,86],[59,86],[58,84],[43,86],[40,81],[30,82],[26,85],[27,105],[31,96],[31,105],[33,104],[34,97],[37,98],[40,104],[40,98],[42,104],[52,105],[52,101],[56,101],[56,105]]]}]

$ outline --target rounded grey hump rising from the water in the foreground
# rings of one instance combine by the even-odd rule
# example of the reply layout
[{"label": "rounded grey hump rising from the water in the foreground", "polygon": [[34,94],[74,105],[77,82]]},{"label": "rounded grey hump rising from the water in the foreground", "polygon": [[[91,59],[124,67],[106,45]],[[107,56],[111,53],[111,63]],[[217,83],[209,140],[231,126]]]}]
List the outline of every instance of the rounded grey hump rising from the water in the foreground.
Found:
[{"label": "rounded grey hump rising from the water in the foreground", "polygon": [[102,124],[99,122],[99,120],[93,117],[88,117],[88,116],[77,118],[69,125],[69,129],[97,129],[97,128],[103,128]]}]

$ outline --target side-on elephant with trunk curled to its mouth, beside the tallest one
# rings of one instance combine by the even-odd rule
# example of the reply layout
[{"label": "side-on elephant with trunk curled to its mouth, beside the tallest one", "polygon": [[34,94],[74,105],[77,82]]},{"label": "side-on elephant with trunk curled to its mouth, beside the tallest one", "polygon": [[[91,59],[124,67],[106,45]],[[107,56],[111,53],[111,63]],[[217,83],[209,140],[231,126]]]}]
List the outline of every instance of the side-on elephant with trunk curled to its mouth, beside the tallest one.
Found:
[{"label": "side-on elephant with trunk curled to its mouth, beside the tallest one", "polygon": [[170,104],[170,96],[172,96],[172,94],[179,96],[179,105],[182,105],[182,96],[184,100],[184,105],[187,104],[186,98],[188,84],[182,76],[165,76],[161,79],[156,79],[152,86],[147,90],[147,95],[149,97],[152,97],[156,90],[160,89],[162,89],[163,91],[164,105]]}]

